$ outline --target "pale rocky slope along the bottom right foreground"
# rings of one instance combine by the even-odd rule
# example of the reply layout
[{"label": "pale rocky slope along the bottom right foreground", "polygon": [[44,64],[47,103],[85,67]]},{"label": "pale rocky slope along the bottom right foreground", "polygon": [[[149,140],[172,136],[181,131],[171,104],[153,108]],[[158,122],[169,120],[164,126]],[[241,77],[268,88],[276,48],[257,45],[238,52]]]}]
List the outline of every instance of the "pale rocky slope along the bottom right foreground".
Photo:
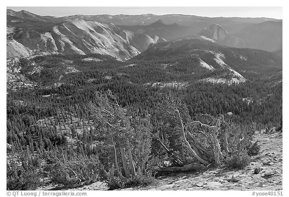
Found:
[{"label": "pale rocky slope along the bottom right foreground", "polygon": [[[282,133],[255,133],[260,154],[243,170],[226,169],[225,166],[202,172],[170,173],[160,176],[150,186],[121,190],[282,190]],[[258,174],[254,169],[259,168]],[[75,190],[106,190],[103,182],[75,188]]]}]

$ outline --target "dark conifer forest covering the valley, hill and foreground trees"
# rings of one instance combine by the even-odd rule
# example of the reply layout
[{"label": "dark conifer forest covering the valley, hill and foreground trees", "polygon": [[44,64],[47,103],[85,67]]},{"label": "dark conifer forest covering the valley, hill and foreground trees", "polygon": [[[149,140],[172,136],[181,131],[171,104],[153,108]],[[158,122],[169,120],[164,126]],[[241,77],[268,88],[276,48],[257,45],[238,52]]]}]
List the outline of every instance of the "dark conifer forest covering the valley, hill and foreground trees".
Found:
[{"label": "dark conifer forest covering the valley, hill and foreground trees", "polygon": [[[206,50],[247,80],[202,81],[232,78]],[[200,67],[200,57],[217,69]],[[282,125],[282,59],[261,50],[193,39],[127,61],[48,55],[8,67],[18,79],[7,84],[8,190],[97,180],[115,189],[208,164],[243,168],[258,153],[253,133]]]}]

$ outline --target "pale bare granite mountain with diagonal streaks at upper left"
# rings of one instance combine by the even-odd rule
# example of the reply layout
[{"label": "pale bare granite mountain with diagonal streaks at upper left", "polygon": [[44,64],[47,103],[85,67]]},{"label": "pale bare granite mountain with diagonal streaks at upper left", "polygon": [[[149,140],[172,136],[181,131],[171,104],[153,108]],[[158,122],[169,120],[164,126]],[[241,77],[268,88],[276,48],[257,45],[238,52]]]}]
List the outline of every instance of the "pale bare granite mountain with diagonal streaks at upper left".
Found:
[{"label": "pale bare granite mountain with diagonal streaks at upper left", "polygon": [[151,38],[148,35],[129,33],[113,24],[80,19],[60,23],[45,32],[11,27],[8,27],[7,32],[8,57],[47,53],[98,53],[129,59],[146,50],[151,43],[162,40],[156,36]]}]

